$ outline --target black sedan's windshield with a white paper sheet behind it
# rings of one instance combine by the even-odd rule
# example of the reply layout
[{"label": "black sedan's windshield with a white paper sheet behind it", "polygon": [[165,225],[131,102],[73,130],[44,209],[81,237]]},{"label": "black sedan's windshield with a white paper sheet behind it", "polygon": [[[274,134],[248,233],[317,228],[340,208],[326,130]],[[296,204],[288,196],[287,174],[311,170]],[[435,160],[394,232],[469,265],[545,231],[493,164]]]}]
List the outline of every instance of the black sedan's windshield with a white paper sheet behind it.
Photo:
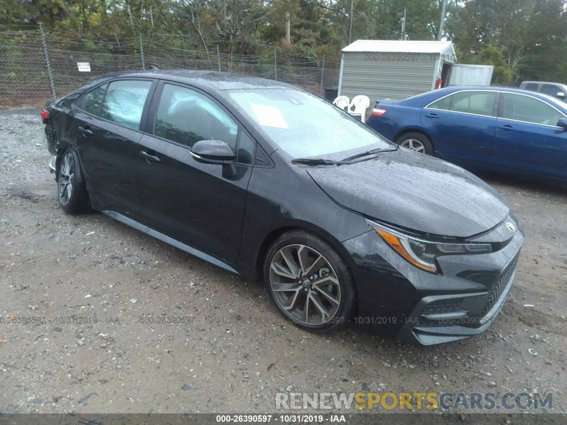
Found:
[{"label": "black sedan's windshield with a white paper sheet behind it", "polygon": [[357,118],[306,92],[282,89],[233,91],[232,99],[292,158],[360,147],[392,145]]}]

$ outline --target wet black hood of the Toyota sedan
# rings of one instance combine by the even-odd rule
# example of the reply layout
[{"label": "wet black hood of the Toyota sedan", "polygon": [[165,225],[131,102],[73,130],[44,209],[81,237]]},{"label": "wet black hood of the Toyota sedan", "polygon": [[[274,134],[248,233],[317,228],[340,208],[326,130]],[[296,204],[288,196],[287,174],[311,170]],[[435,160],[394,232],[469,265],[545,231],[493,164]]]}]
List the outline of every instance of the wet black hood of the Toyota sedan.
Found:
[{"label": "wet black hood of the Toyota sedan", "polygon": [[496,190],[468,171],[404,148],[307,172],[339,205],[422,233],[477,235],[510,210]]}]

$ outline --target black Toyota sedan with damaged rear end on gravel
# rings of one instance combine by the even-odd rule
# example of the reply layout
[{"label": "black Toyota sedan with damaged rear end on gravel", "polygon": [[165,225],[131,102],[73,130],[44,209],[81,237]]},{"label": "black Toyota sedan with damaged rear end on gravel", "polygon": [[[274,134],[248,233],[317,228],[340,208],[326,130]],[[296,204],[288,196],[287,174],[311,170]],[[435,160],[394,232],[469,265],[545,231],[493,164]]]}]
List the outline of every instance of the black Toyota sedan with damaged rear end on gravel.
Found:
[{"label": "black Toyota sedan with damaged rear end on gravel", "polygon": [[432,345],[483,332],[523,233],[471,173],[289,84],[210,71],[101,76],[41,111],[62,210],[102,211],[263,282],[311,332]]}]

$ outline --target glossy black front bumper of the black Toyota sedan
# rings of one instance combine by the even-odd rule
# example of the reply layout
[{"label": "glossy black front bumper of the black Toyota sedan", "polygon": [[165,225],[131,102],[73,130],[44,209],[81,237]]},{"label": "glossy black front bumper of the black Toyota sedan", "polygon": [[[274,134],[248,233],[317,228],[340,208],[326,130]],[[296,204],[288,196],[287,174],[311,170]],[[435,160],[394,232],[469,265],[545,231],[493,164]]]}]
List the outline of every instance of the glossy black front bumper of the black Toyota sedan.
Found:
[{"label": "glossy black front bumper of the black Toyota sedan", "polygon": [[417,269],[373,231],[345,241],[358,290],[356,322],[417,345],[483,333],[510,293],[523,240],[517,230],[496,252],[438,257],[442,274]]}]

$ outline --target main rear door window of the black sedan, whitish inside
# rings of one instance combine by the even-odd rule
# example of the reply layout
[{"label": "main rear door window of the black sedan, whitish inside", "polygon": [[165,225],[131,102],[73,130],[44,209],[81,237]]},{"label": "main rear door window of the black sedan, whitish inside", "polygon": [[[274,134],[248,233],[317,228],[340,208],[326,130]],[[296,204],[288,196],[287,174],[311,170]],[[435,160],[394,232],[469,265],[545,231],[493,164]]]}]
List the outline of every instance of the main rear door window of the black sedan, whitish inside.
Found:
[{"label": "main rear door window of the black sedan, whitish inside", "polygon": [[151,84],[143,80],[113,81],[104,96],[100,117],[138,130]]}]

